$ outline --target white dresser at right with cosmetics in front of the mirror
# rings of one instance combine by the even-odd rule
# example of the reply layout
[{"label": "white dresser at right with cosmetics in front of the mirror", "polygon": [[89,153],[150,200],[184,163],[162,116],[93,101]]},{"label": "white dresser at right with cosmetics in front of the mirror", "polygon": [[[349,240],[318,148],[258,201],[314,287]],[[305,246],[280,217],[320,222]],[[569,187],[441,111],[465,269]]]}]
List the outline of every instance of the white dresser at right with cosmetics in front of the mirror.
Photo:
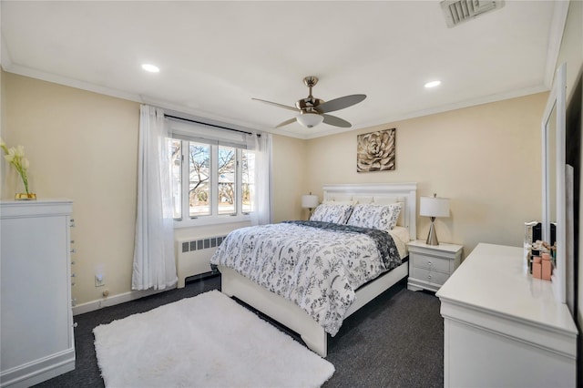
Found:
[{"label": "white dresser at right with cosmetics in front of the mirror", "polygon": [[577,327],[523,248],[479,244],[436,295],[445,387],[575,387]]}]

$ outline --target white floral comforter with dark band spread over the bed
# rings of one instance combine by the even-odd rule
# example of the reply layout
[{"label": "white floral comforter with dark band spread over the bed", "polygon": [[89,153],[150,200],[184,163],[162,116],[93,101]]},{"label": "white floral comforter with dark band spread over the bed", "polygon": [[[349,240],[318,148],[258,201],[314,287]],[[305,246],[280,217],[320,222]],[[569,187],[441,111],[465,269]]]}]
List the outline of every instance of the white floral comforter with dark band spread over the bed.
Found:
[{"label": "white floral comforter with dark band spread over the bed", "polygon": [[402,260],[385,231],[292,221],[231,231],[210,263],[294,302],[333,336],[354,291]]}]

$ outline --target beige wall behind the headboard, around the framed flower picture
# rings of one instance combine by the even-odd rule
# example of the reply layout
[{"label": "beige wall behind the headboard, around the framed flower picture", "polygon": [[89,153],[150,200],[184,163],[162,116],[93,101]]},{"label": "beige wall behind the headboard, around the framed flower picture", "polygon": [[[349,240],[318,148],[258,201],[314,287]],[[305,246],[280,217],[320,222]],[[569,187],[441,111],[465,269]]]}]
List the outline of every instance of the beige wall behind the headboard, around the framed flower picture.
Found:
[{"label": "beige wall behind the headboard, around the framed flower picture", "polygon": [[[325,183],[417,182],[419,196],[451,199],[451,217],[435,220],[439,240],[465,254],[480,241],[521,245],[523,223],[541,217],[546,101],[541,93],[312,139],[308,188],[322,198]],[[384,128],[396,128],[396,169],[357,173],[356,135]],[[428,230],[418,217],[417,237]]]}]

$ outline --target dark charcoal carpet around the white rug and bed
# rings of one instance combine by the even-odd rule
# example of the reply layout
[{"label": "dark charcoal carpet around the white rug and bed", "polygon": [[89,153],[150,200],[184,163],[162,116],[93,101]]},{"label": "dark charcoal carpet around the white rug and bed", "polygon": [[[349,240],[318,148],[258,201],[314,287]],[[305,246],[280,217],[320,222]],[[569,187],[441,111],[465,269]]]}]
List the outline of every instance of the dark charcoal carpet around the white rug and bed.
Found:
[{"label": "dark charcoal carpet around the white rug and bed", "polygon": [[[210,290],[220,290],[220,276],[189,281],[183,289],[76,315],[75,371],[36,386],[103,387],[93,344],[94,327]],[[336,372],[324,388],[442,387],[444,323],[439,307],[433,293],[407,291],[402,281],[356,311],[335,337],[328,338],[326,359]],[[293,332],[283,330],[299,340]]]}]

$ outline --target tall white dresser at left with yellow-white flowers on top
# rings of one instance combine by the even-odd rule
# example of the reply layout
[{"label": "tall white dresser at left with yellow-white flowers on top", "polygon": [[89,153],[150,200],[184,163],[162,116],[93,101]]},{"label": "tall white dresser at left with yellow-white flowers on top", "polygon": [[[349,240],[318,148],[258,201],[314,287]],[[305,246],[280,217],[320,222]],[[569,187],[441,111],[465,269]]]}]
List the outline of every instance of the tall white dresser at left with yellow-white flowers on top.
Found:
[{"label": "tall white dresser at left with yellow-white flowers on top", "polygon": [[0,203],[0,384],[30,386],[75,369],[70,201]]}]

